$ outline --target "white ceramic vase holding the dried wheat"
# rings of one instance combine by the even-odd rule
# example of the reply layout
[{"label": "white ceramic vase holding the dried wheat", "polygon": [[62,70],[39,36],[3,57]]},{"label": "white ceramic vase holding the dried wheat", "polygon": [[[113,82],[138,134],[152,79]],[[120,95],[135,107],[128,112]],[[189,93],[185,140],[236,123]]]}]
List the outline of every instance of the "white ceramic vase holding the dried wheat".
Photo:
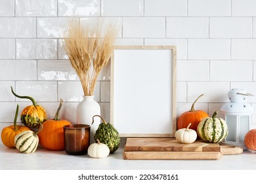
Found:
[{"label": "white ceramic vase holding the dried wheat", "polygon": [[98,129],[98,125],[100,124],[100,118],[95,117],[95,122],[93,125],[93,116],[100,116],[100,105],[95,101],[94,95],[91,96],[83,96],[83,101],[81,101],[77,105],[77,124],[87,124],[91,126],[90,131],[90,144],[95,143],[95,131]]}]

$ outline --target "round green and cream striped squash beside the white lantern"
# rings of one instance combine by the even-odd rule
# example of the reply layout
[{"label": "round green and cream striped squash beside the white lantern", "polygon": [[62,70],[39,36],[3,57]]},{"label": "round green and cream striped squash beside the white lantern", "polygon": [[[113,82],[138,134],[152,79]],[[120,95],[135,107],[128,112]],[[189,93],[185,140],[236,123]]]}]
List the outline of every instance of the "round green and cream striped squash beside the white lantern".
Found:
[{"label": "round green and cream striped squash beside the white lantern", "polygon": [[228,135],[228,125],[222,118],[216,118],[217,114],[218,111],[215,111],[212,118],[203,118],[198,124],[198,135],[204,141],[218,143]]}]

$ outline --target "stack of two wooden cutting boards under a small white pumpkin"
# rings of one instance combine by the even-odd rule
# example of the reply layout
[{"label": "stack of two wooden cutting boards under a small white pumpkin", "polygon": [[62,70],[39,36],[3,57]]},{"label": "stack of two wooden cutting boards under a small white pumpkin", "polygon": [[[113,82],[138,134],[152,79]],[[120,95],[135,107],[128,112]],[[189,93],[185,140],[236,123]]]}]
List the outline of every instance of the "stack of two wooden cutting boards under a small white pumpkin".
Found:
[{"label": "stack of two wooden cutting boards under a small white pumpkin", "polygon": [[182,144],[175,138],[127,138],[123,151],[123,159],[220,159],[222,156],[217,143]]}]

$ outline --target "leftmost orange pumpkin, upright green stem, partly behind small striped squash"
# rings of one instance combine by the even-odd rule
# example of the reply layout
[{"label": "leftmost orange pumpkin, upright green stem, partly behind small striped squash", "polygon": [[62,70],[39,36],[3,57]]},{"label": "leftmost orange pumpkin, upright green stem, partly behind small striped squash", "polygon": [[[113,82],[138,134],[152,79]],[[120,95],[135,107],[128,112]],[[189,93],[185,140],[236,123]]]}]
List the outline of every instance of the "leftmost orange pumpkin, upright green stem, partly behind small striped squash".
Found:
[{"label": "leftmost orange pumpkin, upright green stem, partly behind small striped squash", "polygon": [[29,127],[26,126],[20,126],[17,125],[17,117],[18,117],[18,105],[16,107],[16,113],[15,113],[15,118],[14,118],[14,123],[13,125],[9,125],[8,127],[4,127],[2,132],[1,132],[1,139],[2,142],[5,146],[9,148],[15,148],[15,142],[14,142],[14,137],[18,135],[22,131],[27,131],[30,130]]}]

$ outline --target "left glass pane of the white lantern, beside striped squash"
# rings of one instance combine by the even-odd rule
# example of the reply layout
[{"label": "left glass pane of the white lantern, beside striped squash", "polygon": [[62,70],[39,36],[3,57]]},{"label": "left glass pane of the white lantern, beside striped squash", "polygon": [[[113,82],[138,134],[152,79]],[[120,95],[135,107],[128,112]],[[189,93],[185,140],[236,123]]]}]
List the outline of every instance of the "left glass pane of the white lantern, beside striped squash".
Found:
[{"label": "left glass pane of the white lantern, beside striped squash", "polygon": [[226,137],[226,141],[236,142],[237,117],[226,115],[226,125],[228,125],[228,136]]}]

